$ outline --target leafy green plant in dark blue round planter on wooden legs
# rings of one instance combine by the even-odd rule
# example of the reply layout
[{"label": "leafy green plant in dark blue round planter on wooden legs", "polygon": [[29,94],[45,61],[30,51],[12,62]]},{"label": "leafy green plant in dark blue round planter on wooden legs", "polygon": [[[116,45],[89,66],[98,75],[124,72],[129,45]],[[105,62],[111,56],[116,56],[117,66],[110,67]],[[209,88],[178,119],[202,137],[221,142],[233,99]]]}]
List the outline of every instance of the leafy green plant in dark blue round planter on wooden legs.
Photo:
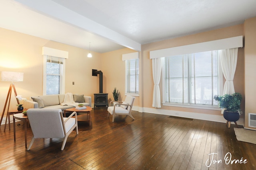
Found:
[{"label": "leafy green plant in dark blue round planter on wooden legs", "polygon": [[240,118],[242,111],[240,110],[240,104],[242,101],[242,95],[240,93],[225,94],[224,96],[214,96],[214,99],[218,101],[219,107],[222,109],[223,117],[227,120],[228,128],[230,123],[234,121],[238,127],[236,121]]}]

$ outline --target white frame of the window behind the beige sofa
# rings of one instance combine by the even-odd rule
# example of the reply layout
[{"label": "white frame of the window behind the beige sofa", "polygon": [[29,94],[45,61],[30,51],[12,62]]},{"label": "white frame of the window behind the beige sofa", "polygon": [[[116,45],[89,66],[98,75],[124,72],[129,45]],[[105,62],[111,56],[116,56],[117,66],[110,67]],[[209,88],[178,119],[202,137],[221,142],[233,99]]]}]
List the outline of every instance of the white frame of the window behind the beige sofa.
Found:
[{"label": "white frame of the window behind the beige sofa", "polygon": [[[46,63],[48,55],[43,55],[43,95],[52,95],[46,94]],[[58,57],[61,58],[61,57]],[[63,58],[63,64],[60,66],[60,94],[65,94],[65,68],[66,68],[66,59]]]}]

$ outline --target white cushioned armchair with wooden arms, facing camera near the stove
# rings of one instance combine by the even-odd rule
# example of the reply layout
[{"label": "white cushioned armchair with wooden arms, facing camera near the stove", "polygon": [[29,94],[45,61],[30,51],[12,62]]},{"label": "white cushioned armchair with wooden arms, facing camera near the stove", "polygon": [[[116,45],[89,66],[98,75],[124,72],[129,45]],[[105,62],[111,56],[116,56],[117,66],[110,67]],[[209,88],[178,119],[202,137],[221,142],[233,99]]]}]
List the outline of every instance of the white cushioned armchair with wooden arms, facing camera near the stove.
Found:
[{"label": "white cushioned armchair with wooden arms, facing camera near the stove", "polygon": [[119,104],[118,105],[115,104],[114,106],[111,106],[111,104],[116,101],[111,101],[109,104],[110,107],[108,107],[108,117],[109,117],[109,114],[113,115],[112,122],[114,122],[115,115],[128,115],[132,119],[134,119],[134,117],[131,114],[134,100],[135,100],[135,97],[126,96],[124,102],[118,102]]}]

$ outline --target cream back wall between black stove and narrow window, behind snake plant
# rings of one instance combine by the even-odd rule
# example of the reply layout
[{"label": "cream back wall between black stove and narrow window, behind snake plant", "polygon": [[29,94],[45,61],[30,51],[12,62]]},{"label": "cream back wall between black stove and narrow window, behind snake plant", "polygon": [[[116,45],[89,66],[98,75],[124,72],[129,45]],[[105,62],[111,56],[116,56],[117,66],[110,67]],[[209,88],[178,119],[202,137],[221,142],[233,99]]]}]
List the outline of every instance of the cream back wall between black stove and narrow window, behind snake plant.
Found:
[{"label": "cream back wall between black stove and narrow window, behind snake plant", "polygon": [[[120,92],[119,101],[125,100],[125,62],[122,61],[122,55],[134,53],[132,49],[124,48],[102,54],[102,72],[103,72],[103,92],[108,93],[108,101],[114,100],[113,90]],[[140,97],[136,97],[134,106],[140,105]]]}]

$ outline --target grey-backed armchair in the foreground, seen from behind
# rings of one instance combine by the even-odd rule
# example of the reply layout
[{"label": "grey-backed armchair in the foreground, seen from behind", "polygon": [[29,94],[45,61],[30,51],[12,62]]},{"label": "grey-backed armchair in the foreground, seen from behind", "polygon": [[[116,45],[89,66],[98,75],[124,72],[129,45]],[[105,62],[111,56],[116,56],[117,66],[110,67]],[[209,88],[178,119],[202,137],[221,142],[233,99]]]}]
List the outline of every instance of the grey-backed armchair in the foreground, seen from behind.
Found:
[{"label": "grey-backed armchair in the foreground, seen from behind", "polygon": [[[77,115],[74,111],[69,117],[63,117],[61,109],[28,109],[28,120],[33,137],[27,148],[34,143],[36,138],[64,138],[61,150],[64,149],[68,135],[76,128],[78,134]],[[75,116],[75,118],[72,118]]]}]

